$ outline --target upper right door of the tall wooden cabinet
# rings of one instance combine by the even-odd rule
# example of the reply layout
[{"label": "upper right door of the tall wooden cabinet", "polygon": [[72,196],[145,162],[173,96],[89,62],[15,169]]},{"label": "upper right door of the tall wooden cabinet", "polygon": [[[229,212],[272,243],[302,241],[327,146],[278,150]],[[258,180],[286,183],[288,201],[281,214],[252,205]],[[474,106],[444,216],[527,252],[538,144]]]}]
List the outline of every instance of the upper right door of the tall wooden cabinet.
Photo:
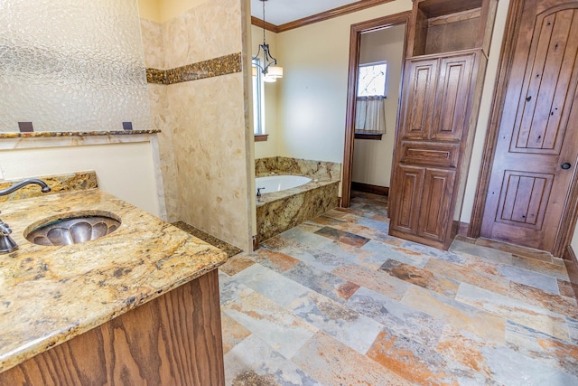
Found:
[{"label": "upper right door of the tall wooden cabinet", "polygon": [[475,60],[474,53],[440,59],[435,118],[430,126],[433,139],[460,141],[464,128],[468,127]]}]

